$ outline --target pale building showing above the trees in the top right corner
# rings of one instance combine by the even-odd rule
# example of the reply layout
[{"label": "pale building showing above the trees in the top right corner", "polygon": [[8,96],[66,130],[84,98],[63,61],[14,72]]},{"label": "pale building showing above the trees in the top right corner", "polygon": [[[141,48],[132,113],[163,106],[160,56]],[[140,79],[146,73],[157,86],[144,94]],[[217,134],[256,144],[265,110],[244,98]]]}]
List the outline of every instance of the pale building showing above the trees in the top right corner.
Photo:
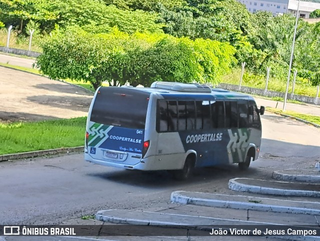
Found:
[{"label": "pale building showing above the trees in the top right corner", "polygon": [[[271,11],[275,16],[281,13],[295,14],[298,0],[238,0],[243,3],[250,12]],[[320,9],[320,3],[300,1],[300,17],[309,18],[315,9]]]}]

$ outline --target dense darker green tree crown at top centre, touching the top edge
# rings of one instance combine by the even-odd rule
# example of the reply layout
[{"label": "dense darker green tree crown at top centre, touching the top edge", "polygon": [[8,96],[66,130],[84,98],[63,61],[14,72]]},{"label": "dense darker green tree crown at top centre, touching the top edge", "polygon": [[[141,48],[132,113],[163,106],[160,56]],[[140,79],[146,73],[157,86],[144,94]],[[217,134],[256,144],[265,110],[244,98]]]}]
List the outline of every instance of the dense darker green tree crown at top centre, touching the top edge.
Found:
[{"label": "dense darker green tree crown at top centre, touching the top edge", "polygon": [[233,46],[251,30],[251,13],[234,0],[186,0],[174,9],[159,8],[165,33],[226,41]]}]

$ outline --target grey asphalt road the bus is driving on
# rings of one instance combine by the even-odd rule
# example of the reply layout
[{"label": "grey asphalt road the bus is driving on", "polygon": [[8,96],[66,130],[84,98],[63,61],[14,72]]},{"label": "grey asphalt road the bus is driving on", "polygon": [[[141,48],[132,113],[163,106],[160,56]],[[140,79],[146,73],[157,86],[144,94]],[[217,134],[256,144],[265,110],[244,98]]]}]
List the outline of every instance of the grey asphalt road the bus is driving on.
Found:
[{"label": "grey asphalt road the bus is driving on", "polygon": [[318,128],[268,113],[262,126],[261,158],[248,171],[236,165],[205,168],[185,182],[166,172],[93,165],[83,153],[0,162],[0,224],[58,224],[113,208],[157,211],[176,205],[170,203],[175,190],[228,194],[230,178],[270,179],[273,170],[320,160]]}]

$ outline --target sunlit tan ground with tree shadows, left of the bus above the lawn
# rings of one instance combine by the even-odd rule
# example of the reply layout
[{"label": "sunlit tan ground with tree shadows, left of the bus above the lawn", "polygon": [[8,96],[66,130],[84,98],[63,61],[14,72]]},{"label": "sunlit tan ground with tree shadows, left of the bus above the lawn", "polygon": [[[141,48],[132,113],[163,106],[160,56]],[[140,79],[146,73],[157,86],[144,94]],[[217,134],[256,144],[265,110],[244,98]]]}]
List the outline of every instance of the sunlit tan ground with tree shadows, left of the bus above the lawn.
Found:
[{"label": "sunlit tan ground with tree shadows, left of the bus above the lawn", "polygon": [[86,116],[92,96],[75,85],[0,67],[0,122]]}]

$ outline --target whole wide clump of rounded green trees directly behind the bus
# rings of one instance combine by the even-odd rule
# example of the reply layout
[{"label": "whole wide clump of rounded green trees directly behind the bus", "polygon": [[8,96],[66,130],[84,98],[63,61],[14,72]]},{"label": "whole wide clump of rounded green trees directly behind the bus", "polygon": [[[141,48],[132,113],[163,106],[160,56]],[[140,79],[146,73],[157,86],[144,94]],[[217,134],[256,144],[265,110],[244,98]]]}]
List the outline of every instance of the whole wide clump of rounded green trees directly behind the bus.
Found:
[{"label": "whole wide clump of rounded green trees directly behind the bus", "polygon": [[84,80],[95,89],[102,81],[134,86],[154,80],[216,83],[235,63],[234,52],[230,44],[211,40],[69,28],[43,43],[36,66],[51,78]]}]

